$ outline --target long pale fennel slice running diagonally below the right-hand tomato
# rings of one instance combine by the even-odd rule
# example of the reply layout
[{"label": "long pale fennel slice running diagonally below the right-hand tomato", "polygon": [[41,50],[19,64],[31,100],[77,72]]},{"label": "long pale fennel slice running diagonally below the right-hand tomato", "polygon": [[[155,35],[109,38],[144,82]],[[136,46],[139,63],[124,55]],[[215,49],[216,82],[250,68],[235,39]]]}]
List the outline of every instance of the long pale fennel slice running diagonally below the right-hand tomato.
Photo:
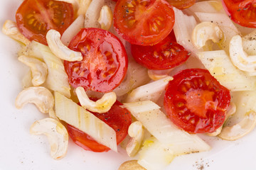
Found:
[{"label": "long pale fennel slice running diagonally below the right-hand tomato", "polygon": [[[151,105],[155,108],[150,110],[148,107]],[[210,149],[210,146],[197,135],[190,135],[177,128],[156,106],[156,103],[152,101],[124,103],[124,107],[149,130],[151,135],[168,146],[175,155],[203,152]]]}]

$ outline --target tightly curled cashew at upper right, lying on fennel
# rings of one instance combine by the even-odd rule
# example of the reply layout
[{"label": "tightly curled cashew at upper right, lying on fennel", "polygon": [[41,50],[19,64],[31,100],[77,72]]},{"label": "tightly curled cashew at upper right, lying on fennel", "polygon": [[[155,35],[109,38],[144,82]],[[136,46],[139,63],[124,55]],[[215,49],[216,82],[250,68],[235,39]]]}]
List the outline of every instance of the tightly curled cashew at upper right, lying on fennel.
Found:
[{"label": "tightly curled cashew at upper right, lying on fennel", "polygon": [[200,49],[206,45],[206,41],[220,42],[223,36],[223,31],[215,23],[202,22],[193,29],[192,42],[196,48]]}]

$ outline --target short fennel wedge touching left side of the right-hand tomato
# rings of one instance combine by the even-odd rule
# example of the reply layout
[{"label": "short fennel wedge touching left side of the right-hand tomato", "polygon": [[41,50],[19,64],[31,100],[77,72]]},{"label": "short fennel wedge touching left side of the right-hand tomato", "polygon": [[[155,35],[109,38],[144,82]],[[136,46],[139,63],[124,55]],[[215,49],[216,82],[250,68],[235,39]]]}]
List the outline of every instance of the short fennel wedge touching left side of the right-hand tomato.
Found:
[{"label": "short fennel wedge touching left side of the right-hand tomato", "polygon": [[165,90],[169,81],[173,80],[173,77],[165,77],[157,81],[153,81],[144,86],[139,86],[134,89],[126,98],[126,102],[134,101],[158,101],[162,92]]}]

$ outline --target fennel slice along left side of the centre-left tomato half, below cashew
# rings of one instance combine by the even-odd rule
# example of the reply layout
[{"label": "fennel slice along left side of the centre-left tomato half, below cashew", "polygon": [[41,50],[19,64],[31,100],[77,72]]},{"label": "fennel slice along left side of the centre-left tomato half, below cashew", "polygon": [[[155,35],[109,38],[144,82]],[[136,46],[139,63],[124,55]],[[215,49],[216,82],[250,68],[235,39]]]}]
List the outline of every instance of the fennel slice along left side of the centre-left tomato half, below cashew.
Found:
[{"label": "fennel slice along left side of the centre-left tomato half, below cashew", "polygon": [[53,55],[48,46],[32,41],[24,55],[36,57],[46,63],[48,77],[43,86],[53,91],[58,91],[68,98],[70,97],[70,85],[68,84],[68,75],[65,72],[63,62]]}]

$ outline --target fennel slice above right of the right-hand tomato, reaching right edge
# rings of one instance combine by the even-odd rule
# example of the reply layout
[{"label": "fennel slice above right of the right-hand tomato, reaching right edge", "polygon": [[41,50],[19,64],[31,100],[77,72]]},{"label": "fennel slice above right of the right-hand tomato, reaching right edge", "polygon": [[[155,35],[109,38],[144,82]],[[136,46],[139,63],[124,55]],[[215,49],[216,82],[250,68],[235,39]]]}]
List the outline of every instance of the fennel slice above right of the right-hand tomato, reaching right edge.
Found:
[{"label": "fennel slice above right of the right-hand tomato, reaching right edge", "polygon": [[250,77],[237,69],[224,50],[198,52],[198,57],[210,74],[230,91],[256,89],[256,77]]}]

